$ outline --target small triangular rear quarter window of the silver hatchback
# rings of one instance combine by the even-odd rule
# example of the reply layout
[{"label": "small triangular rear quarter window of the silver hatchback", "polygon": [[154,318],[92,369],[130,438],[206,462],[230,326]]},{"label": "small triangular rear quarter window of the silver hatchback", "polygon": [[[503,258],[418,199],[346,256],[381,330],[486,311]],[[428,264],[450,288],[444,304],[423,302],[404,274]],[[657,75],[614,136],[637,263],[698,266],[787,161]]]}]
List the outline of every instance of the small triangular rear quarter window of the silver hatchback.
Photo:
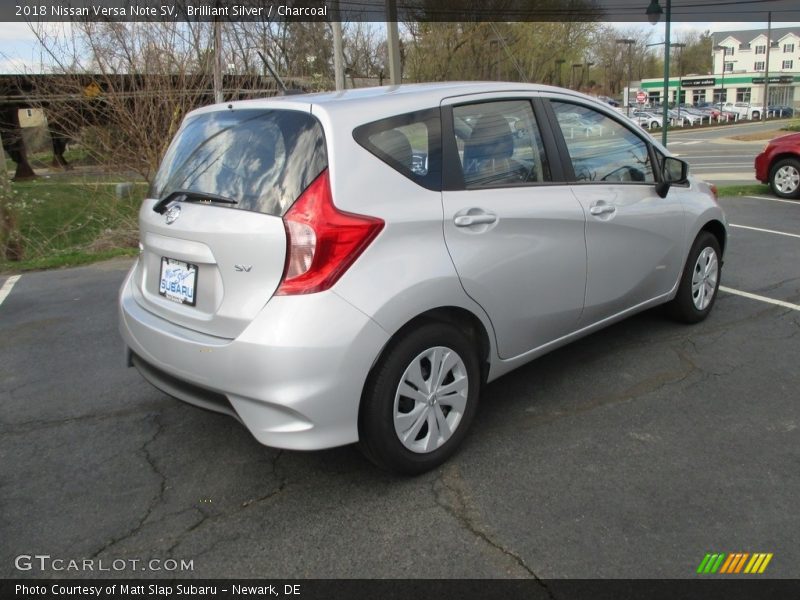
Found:
[{"label": "small triangular rear quarter window of the silver hatchback", "polygon": [[415,111],[361,125],[353,138],[395,171],[429,190],[442,188],[439,109]]}]

